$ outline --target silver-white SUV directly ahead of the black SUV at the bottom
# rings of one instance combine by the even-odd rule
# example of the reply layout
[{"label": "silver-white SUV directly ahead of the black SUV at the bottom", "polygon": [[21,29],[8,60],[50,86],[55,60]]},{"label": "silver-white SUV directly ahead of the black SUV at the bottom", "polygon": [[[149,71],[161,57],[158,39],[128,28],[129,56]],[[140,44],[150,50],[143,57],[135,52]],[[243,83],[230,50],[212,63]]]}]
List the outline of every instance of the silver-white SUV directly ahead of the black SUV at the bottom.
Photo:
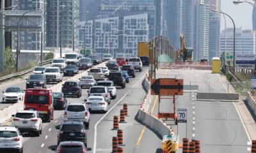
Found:
[{"label": "silver-white SUV directly ahead of the black SUV at the bottom", "polygon": [[65,108],[64,121],[80,121],[89,129],[90,112],[84,103],[69,103]]}]

